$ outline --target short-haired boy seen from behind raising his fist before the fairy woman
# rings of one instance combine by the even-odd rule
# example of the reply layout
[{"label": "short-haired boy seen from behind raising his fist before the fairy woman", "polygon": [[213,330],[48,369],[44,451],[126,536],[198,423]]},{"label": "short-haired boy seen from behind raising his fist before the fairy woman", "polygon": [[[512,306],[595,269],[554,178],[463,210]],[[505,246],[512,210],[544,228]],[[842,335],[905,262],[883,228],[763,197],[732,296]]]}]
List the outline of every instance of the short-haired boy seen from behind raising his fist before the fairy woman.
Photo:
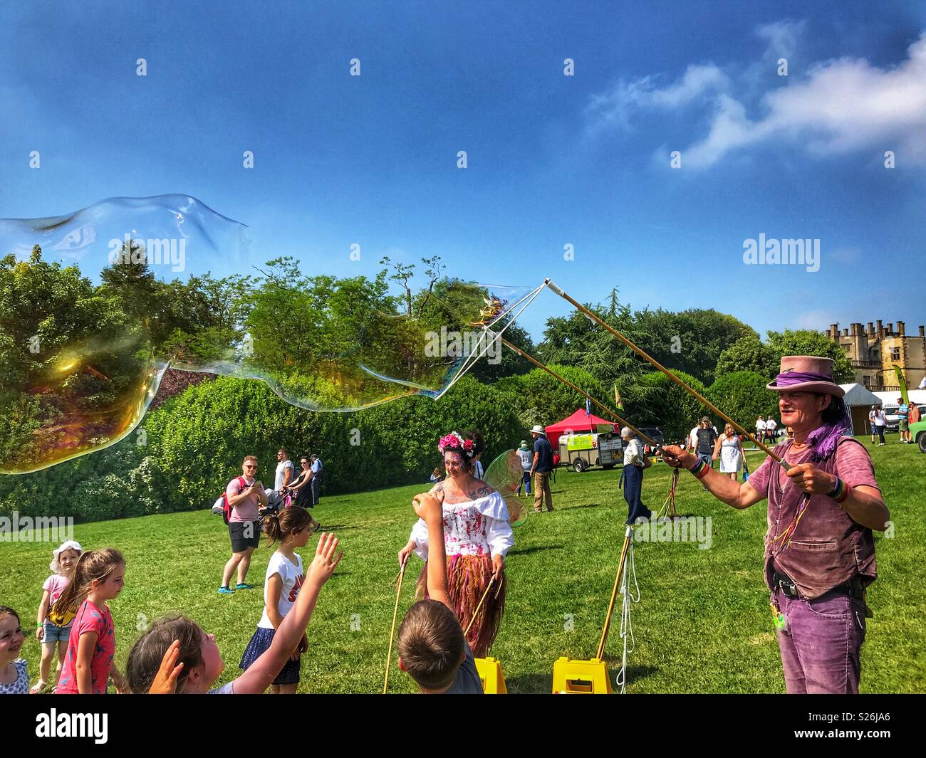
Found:
[{"label": "short-haired boy seen from behind raising his fist before the fairy woman", "polygon": [[408,609],[399,627],[399,668],[428,695],[479,694],[482,680],[463,637],[463,628],[447,594],[444,558],[444,505],[431,493],[412,501],[415,513],[428,526],[428,596]]}]

